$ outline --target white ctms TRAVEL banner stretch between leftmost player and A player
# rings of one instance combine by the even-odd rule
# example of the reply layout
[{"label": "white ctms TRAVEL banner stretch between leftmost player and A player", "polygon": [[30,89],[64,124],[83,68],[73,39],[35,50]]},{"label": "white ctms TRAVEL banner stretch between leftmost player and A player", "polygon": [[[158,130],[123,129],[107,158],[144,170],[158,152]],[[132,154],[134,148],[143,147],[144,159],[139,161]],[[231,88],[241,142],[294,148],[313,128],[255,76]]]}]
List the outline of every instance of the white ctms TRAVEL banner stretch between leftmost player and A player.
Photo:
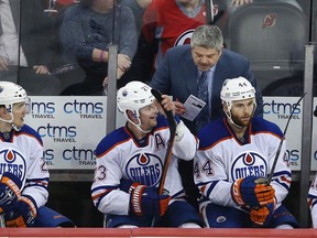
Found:
[{"label": "white ctms TRAVEL banner stretch between leftmost player and A player", "polygon": [[[25,123],[44,142],[50,170],[90,170],[94,150],[107,131],[107,97],[31,97]],[[117,127],[123,125],[117,113]]]}]

